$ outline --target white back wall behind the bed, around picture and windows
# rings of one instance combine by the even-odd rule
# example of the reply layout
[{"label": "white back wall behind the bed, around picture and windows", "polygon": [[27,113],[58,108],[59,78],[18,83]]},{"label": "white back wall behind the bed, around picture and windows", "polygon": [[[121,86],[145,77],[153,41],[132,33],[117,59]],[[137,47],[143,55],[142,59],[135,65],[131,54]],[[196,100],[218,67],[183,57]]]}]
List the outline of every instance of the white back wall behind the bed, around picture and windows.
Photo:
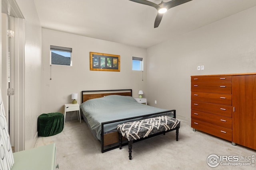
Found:
[{"label": "white back wall behind the bed, around picture and windows", "polygon": [[[72,66],[50,69],[50,45],[72,48]],[[120,55],[120,72],[90,71],[90,52]],[[146,65],[146,49],[42,29],[42,113],[63,113],[64,104],[72,102],[71,93],[78,93],[81,104],[82,90],[132,89],[134,97],[139,90],[146,92],[146,66],[142,81],[142,72],[132,71],[133,56],[144,58]]]}]

